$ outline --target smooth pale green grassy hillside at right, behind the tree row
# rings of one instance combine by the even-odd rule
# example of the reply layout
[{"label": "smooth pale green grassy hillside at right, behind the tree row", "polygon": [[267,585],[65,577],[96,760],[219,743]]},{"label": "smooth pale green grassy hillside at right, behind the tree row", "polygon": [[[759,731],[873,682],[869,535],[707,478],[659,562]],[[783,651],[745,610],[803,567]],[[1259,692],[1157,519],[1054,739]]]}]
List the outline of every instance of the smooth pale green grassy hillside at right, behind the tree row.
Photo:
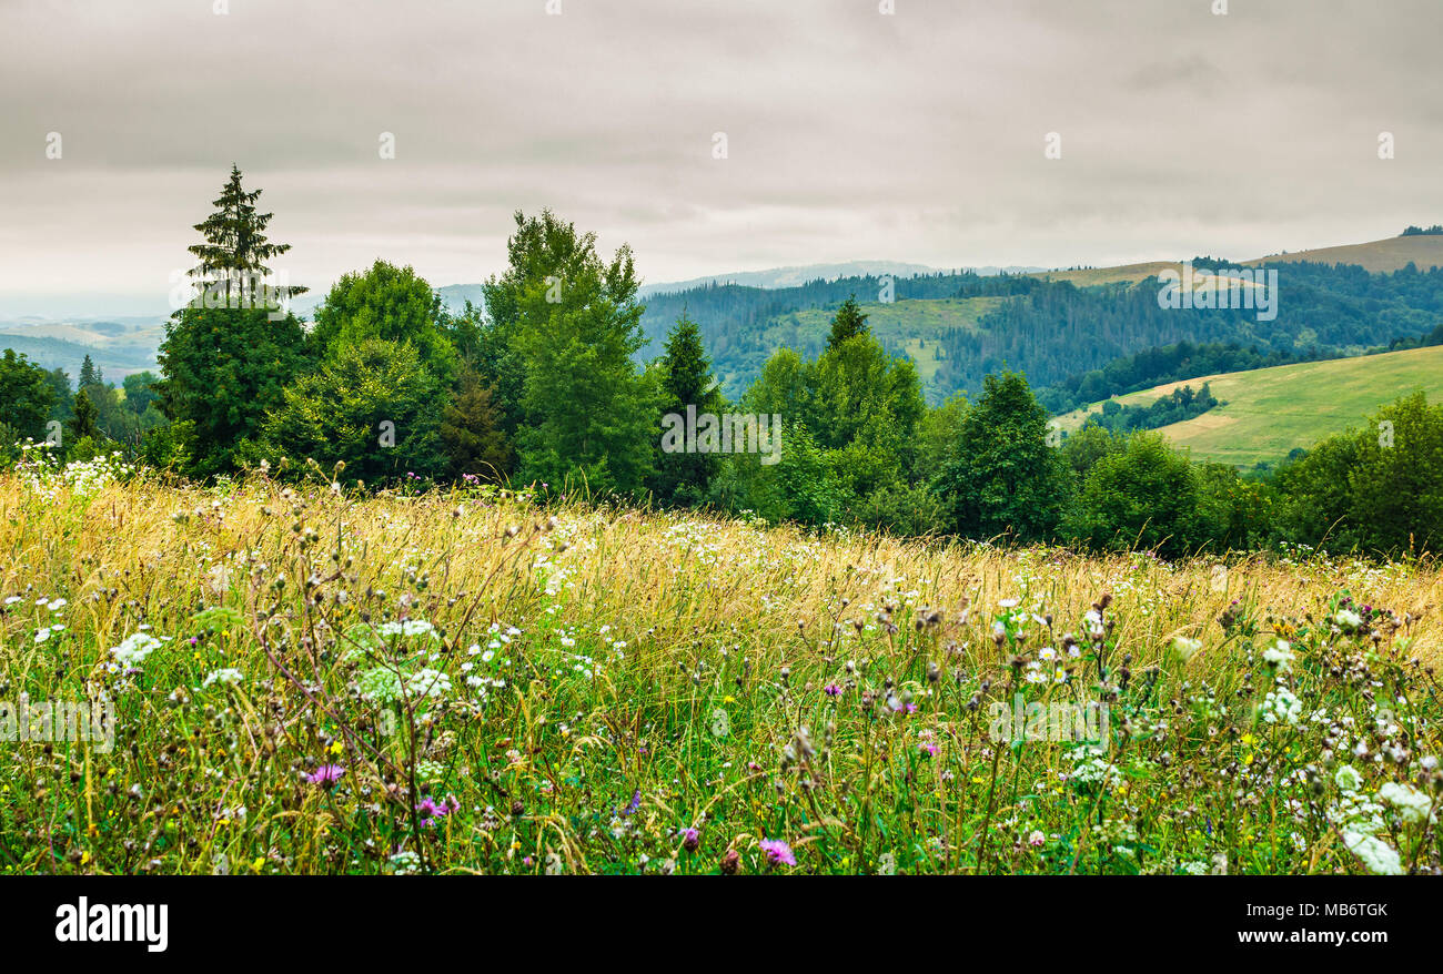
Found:
[{"label": "smooth pale green grassy hillside at right, behind the tree row", "polygon": [[[1361,426],[1380,405],[1413,390],[1421,388],[1429,401],[1443,400],[1443,346],[1205,375],[1117,401],[1143,405],[1182,385],[1196,390],[1203,382],[1225,405],[1165,426],[1160,433],[1189,447],[1193,459],[1251,466],[1281,460],[1290,450]],[[1058,417],[1058,426],[1075,430],[1082,420],[1078,410]]]}]

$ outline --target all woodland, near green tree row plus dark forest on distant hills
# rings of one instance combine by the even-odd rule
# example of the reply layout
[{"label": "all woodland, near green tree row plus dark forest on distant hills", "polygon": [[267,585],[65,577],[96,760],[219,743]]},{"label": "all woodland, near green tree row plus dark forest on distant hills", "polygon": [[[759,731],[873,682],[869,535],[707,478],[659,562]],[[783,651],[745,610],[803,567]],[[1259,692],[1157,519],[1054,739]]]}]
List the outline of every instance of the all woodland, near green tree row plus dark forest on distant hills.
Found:
[{"label": "all woodland, near green tree row plus dark forest on distant hills", "polygon": [[[336,281],[306,323],[247,299],[244,281],[268,274],[289,250],[267,238],[271,215],[258,212],[258,198],[232,170],[195,227],[196,291],[224,300],[175,313],[159,378],[128,377],[115,388],[87,361],[72,392],[63,372],[13,351],[0,358],[9,465],[118,450],[201,481],[251,472],[338,488],[524,485],[532,496],[1165,557],[1273,544],[1397,554],[1443,543],[1443,407],[1421,394],[1359,417],[1354,433],[1261,478],[1193,463],[1149,431],[1211,407],[1206,385],[1137,413],[1105,410],[1061,442],[1043,401],[1297,361],[1400,332],[1437,335],[1437,271],[1290,266],[1286,310],[1264,323],[1165,312],[1147,284],[898,280],[899,299],[1006,299],[984,328],[942,339],[942,362],[975,395],[929,404],[915,362],[877,341],[853,297],[883,283],[771,293],[709,286],[644,304],[629,248],[606,257],[595,235],[550,211],[515,215],[508,267],[485,283],[481,306],[453,312],[410,267],[378,260]],[[729,398],[716,362],[737,354],[729,341],[745,339],[746,328],[801,300],[789,291],[835,299],[827,333],[814,351],[768,349]],[[719,333],[709,319],[743,326]],[[1219,341],[1193,343],[1198,322]],[[645,352],[648,330],[664,330],[659,354]],[[1022,367],[1061,382],[1039,400]],[[745,447],[670,452],[659,436],[668,414],[776,417],[781,462]],[[26,439],[45,446],[10,446]]]}]

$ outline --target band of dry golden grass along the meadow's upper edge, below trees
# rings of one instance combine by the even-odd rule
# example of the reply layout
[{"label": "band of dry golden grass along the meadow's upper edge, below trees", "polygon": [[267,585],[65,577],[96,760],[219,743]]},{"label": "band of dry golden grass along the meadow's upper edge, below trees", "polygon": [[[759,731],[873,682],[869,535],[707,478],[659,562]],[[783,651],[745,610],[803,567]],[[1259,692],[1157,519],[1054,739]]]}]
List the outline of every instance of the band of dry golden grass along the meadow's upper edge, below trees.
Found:
[{"label": "band of dry golden grass along the meadow's upper edge, below trees", "polygon": [[[110,486],[84,509],[62,496],[49,508],[53,515],[42,508],[38,518],[35,498],[19,482],[3,479],[0,545],[9,558],[0,589],[66,590],[79,609],[97,592],[118,586],[121,599],[89,609],[94,618],[87,625],[97,642],[113,645],[126,635],[120,632],[124,599],[162,620],[214,605],[218,566],[225,569],[231,597],[244,593],[247,605],[254,605],[257,589],[247,576],[255,573],[257,561],[247,553],[266,553],[260,561],[274,573],[294,522],[319,531],[322,554],[342,538],[355,557],[352,590],[395,587],[405,580],[407,564],[420,564],[430,571],[433,589],[423,602],[436,606],[465,592],[479,616],[508,618],[537,606],[538,589],[527,573],[554,566],[567,574],[563,620],[610,620],[632,633],[655,631],[662,645],[685,642],[694,631],[734,626],[778,659],[802,645],[795,638],[798,622],[815,635],[817,626],[850,619],[860,607],[874,612],[902,602],[913,609],[955,609],[1027,596],[1040,599],[1059,619],[1075,619],[1102,592],[1118,599],[1123,636],[1144,657],[1179,633],[1205,633],[1234,599],[1300,616],[1322,612],[1339,590],[1359,603],[1424,616],[1417,652],[1436,658],[1443,651],[1443,632],[1431,619],[1431,609],[1443,602],[1443,569],[1434,561],[1253,556],[1229,558],[1222,571],[1218,558],[1169,564],[1146,553],[1084,556],[847,531],[817,537],[794,527],[693,512],[582,505],[540,511],[514,499],[460,493],[352,501],[310,489],[287,499],[283,489],[274,482],[225,493],[153,482]],[[306,508],[297,517],[302,496]],[[455,517],[457,509],[460,517]],[[176,514],[186,519],[177,522]],[[534,532],[551,515],[558,527]],[[505,538],[508,527],[521,528],[517,540]],[[558,551],[558,541],[567,550]],[[326,558],[313,558],[316,570],[326,566]],[[488,580],[491,590],[485,590]],[[841,607],[843,599],[848,609]]]}]

